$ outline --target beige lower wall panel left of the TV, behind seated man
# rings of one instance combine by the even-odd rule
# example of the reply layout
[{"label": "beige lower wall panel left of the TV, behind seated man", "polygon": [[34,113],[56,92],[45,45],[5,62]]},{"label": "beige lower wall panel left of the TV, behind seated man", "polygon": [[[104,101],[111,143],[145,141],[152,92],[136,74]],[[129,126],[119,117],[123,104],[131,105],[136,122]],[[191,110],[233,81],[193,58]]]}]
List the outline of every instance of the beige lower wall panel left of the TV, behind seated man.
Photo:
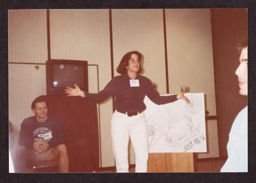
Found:
[{"label": "beige lower wall panel left of the TV, behind seated man", "polygon": [[8,111],[15,138],[13,156],[18,147],[22,120],[34,115],[31,111],[31,103],[39,95],[46,94],[45,65],[38,66],[39,69],[36,70],[35,65],[8,65]]}]

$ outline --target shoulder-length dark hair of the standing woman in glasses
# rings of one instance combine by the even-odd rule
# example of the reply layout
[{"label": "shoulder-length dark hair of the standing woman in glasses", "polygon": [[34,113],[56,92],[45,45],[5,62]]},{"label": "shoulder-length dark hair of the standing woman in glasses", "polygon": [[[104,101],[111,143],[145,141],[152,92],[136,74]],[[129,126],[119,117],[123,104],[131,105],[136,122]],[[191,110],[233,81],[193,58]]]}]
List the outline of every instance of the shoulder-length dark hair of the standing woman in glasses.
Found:
[{"label": "shoulder-length dark hair of the standing woman in glasses", "polygon": [[142,59],[142,54],[138,51],[131,51],[131,52],[127,52],[122,60],[120,61],[118,67],[116,68],[116,71],[119,73],[119,74],[125,74],[127,72],[127,66],[129,65],[129,59],[131,58],[131,55],[132,54],[136,54],[138,55],[138,59],[139,59],[139,63],[140,63],[140,68],[138,70],[138,74],[140,74],[142,72],[142,66],[141,66],[141,59]]}]

